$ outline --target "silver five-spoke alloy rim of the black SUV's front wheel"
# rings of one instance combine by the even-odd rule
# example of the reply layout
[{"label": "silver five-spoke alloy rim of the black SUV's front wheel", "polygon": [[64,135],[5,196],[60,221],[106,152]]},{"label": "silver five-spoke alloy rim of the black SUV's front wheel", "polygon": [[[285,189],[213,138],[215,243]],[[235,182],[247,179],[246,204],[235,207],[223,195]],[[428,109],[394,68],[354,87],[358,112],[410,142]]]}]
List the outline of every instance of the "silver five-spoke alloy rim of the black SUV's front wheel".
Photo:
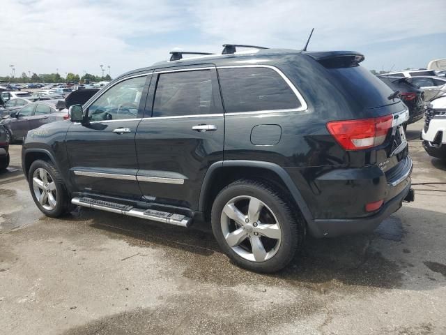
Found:
[{"label": "silver five-spoke alloy rim of the black SUV's front wheel", "polygon": [[56,183],[47,170],[38,168],[33,173],[33,191],[39,204],[52,211],[57,204]]}]

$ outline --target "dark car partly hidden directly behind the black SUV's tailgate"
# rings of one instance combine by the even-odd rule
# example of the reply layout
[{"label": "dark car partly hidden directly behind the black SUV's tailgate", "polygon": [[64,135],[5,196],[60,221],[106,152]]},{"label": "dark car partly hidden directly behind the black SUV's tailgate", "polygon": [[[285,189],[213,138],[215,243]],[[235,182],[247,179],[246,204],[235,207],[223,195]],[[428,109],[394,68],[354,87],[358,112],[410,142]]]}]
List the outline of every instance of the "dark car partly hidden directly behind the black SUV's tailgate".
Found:
[{"label": "dark car partly hidden directly behind the black SUV's tailgate", "polygon": [[424,92],[421,89],[411,84],[405,77],[378,75],[378,78],[394,91],[399,91],[401,100],[409,108],[407,124],[413,124],[424,117]]}]

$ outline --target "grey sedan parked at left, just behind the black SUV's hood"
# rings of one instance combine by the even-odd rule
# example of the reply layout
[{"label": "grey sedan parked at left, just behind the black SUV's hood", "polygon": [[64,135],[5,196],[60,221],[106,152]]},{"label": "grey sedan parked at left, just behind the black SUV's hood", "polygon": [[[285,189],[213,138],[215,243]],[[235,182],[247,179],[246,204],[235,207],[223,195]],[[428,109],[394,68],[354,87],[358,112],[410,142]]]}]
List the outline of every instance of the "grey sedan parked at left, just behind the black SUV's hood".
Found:
[{"label": "grey sedan parked at left, just behind the black SUV's hood", "polygon": [[[65,103],[64,101],[62,102],[63,106],[61,106],[61,109],[65,108]],[[8,117],[3,118],[0,124],[8,130],[11,143],[22,140],[30,129],[35,129],[54,121],[69,119],[68,112],[61,111],[58,104],[60,105],[58,100],[30,103],[20,110],[14,111]]]}]

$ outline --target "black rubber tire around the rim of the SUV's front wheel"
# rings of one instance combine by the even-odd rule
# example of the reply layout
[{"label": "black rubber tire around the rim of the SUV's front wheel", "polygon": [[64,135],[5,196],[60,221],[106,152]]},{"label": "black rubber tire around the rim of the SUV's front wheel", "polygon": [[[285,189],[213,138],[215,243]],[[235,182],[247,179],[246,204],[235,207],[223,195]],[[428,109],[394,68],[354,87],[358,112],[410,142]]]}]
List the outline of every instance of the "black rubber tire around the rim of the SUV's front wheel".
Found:
[{"label": "black rubber tire around the rim of the SUV's front wheel", "polygon": [[[56,192],[57,192],[57,200],[56,200],[56,207],[52,210],[45,209],[38,199],[36,198],[36,195],[34,194],[33,189],[33,174],[34,171],[36,171],[38,168],[43,168],[47,170],[49,175],[51,176],[51,179],[54,181],[54,184],[56,185]],[[46,216],[50,217],[57,217],[60,216],[64,209],[65,209],[65,203],[66,203],[66,190],[65,186],[59,181],[58,176],[56,176],[56,171],[52,165],[45,161],[35,161],[31,164],[31,167],[29,168],[28,173],[28,184],[29,184],[29,190],[31,191],[31,196],[33,197],[34,202],[36,203],[38,209],[43,212]]]}]

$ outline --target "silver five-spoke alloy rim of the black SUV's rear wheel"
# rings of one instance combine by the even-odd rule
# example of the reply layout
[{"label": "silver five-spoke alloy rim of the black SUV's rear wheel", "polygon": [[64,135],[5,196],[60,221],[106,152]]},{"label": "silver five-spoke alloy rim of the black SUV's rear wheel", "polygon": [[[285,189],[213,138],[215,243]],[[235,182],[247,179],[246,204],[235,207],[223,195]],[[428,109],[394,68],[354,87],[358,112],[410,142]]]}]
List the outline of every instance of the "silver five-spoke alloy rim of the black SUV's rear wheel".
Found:
[{"label": "silver five-spoke alloy rim of the black SUV's rear wheel", "polygon": [[282,241],[279,221],[257,198],[243,195],[229,200],[220,221],[226,243],[245,260],[264,262],[279,250]]}]

